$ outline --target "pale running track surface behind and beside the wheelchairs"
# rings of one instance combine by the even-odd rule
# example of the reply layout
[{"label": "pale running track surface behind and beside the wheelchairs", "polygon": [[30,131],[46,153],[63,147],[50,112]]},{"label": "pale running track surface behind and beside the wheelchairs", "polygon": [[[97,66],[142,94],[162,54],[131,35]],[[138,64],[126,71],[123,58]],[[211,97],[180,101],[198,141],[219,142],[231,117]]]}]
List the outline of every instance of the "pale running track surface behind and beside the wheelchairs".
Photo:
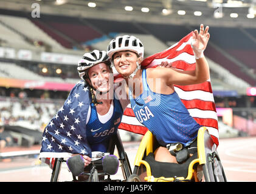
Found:
[{"label": "pale running track surface behind and beside the wheelchairs", "polygon": [[[123,146],[133,169],[133,161],[139,142],[124,142]],[[38,149],[38,147],[33,148]],[[220,139],[218,153],[227,181],[256,182],[256,137]],[[115,175],[118,178],[121,170]],[[38,164],[37,158],[15,158],[0,161],[0,182],[49,182],[51,170],[45,164]],[[60,180],[71,181],[71,173],[63,164]]]}]

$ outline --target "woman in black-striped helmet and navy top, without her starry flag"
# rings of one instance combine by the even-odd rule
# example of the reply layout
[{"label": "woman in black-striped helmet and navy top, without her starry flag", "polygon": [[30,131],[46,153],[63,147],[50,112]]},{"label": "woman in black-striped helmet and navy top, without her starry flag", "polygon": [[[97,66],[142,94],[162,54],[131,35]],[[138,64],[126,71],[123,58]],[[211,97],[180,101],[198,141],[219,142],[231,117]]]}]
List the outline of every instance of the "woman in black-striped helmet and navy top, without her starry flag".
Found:
[{"label": "woman in black-striped helmet and navy top, without her starry flag", "polygon": [[[92,96],[86,119],[86,137],[92,151],[106,152],[108,141],[117,132],[129,101],[120,102],[114,98],[111,62],[105,51],[85,53],[78,61],[77,70]],[[84,158],[88,159],[88,156]]]}]

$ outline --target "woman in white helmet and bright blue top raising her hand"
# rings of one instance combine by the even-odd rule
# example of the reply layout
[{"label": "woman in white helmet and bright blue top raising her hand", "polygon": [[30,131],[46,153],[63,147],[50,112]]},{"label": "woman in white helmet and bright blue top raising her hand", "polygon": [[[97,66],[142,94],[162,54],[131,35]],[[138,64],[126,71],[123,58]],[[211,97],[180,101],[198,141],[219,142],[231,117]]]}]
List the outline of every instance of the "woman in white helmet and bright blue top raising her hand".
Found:
[{"label": "woman in white helmet and bright blue top raising her hand", "polygon": [[193,72],[163,68],[140,69],[144,46],[134,36],[119,36],[108,45],[109,58],[129,86],[126,92],[130,96],[136,118],[161,144],[155,152],[158,161],[177,162],[167,149],[168,145],[181,143],[183,147],[190,146],[201,127],[189,115],[173,84],[198,84],[209,79],[209,65],[203,55],[210,38],[208,30],[208,26],[204,30],[201,24],[200,32],[195,30],[193,33],[192,48],[196,58],[196,70]]}]

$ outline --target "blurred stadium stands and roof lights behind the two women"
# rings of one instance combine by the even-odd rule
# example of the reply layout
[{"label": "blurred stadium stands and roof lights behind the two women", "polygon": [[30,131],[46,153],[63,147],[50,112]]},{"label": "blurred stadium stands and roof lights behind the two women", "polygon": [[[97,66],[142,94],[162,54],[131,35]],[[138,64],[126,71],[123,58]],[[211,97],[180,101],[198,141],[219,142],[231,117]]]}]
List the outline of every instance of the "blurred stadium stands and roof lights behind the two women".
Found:
[{"label": "blurred stadium stands and roof lights behind the two women", "polygon": [[[85,52],[106,50],[112,38],[128,34],[144,42],[149,56],[200,24],[210,26],[204,54],[220,138],[255,136],[255,16],[255,0],[1,0],[1,136],[12,141],[0,155],[38,152],[44,126],[79,81],[77,61]],[[120,133],[124,142],[140,139]]]}]

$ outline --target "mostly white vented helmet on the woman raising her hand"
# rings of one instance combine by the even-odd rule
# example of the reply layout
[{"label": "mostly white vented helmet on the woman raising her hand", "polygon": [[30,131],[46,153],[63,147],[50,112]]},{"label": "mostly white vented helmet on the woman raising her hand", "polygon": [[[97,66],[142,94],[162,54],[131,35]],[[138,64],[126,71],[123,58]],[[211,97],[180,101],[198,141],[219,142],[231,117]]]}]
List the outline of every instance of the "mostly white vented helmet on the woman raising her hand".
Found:
[{"label": "mostly white vented helmet on the woman raising her hand", "polygon": [[124,35],[117,36],[117,38],[112,39],[112,41],[108,44],[107,54],[111,59],[114,53],[122,50],[131,50],[136,52],[142,58],[144,56],[144,45],[135,36]]}]

